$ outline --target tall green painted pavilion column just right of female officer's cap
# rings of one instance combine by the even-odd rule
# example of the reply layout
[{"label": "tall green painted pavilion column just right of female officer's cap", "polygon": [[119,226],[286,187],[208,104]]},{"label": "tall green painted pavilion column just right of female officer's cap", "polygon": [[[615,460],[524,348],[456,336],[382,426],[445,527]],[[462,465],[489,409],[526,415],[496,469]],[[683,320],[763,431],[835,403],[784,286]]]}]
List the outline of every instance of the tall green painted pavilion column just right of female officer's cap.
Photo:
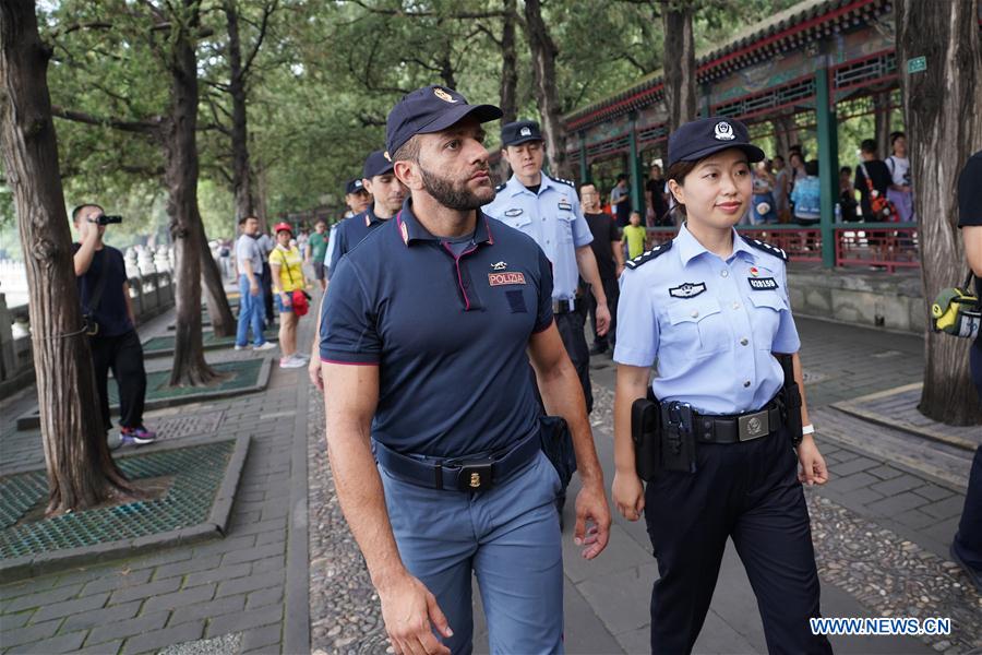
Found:
[{"label": "tall green painted pavilion column just right of female officer's cap", "polygon": [[830,106],[828,69],[815,71],[815,114],[818,118],[818,179],[822,200],[822,265],[836,265],[836,241],[833,225],[839,191],[839,135]]}]

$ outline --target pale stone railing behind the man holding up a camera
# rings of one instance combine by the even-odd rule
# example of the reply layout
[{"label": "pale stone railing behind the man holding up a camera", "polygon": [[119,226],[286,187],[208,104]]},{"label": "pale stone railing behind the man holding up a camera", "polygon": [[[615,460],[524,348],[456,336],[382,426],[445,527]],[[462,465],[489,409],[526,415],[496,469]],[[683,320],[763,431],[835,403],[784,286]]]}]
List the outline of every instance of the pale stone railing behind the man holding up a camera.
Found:
[{"label": "pale stone railing behind the man holding up a camera", "polygon": [[[128,266],[130,298],[136,322],[143,323],[173,307],[173,276],[170,271],[141,274]],[[34,381],[31,353],[31,317],[27,305],[7,307],[0,294],[0,398]]]}]

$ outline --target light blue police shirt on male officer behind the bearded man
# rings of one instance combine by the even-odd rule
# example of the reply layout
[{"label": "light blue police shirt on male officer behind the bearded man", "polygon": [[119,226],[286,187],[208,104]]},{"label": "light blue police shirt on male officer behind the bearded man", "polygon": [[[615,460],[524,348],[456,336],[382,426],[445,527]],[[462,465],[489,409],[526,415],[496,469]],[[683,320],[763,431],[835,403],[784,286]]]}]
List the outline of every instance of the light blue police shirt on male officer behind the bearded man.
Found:
[{"label": "light blue police shirt on male officer behind the bearded man", "polygon": [[481,210],[505,225],[527,234],[552,262],[553,300],[576,296],[579,269],[576,248],[594,240],[573,182],[542,174],[539,193],[532,193],[514,175],[498,188],[498,195]]}]

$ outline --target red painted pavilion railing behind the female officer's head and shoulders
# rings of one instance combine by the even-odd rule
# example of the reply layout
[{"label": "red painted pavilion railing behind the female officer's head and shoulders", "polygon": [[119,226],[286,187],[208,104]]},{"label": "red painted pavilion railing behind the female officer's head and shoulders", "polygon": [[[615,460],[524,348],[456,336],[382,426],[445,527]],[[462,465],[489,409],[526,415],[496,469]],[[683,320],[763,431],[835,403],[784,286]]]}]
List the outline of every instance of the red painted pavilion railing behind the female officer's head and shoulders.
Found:
[{"label": "red painted pavilion railing behind the female officer's head and shoulders", "polygon": [[[769,226],[738,228],[741,235],[777,246],[793,262],[822,262],[822,230],[817,227]],[[648,229],[647,247],[674,238],[673,227]],[[886,227],[842,225],[833,228],[836,266],[876,266],[893,273],[921,265],[918,228],[910,224]]]}]

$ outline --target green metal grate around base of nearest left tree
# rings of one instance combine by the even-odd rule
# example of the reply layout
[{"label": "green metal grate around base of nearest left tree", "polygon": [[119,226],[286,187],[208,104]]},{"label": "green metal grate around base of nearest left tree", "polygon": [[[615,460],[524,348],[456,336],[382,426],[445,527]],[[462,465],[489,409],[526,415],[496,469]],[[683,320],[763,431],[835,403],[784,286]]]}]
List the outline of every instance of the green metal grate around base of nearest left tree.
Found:
[{"label": "green metal grate around base of nearest left tree", "polygon": [[235,441],[229,440],[120,458],[117,464],[129,479],[169,477],[170,488],[156,500],[21,524],[17,521],[47,499],[45,474],[29,472],[0,478],[4,522],[0,558],[132,539],[202,523],[208,516],[233,446]]}]

